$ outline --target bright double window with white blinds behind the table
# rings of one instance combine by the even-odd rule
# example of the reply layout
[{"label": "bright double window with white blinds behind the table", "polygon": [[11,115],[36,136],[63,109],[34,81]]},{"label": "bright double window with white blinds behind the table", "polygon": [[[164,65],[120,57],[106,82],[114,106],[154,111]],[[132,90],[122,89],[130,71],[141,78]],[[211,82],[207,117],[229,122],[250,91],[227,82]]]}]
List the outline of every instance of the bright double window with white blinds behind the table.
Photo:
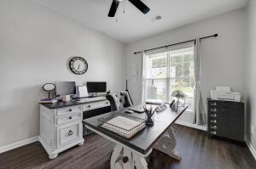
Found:
[{"label": "bright double window with white blinds behind the table", "polygon": [[193,110],[195,69],[194,47],[172,49],[158,54],[146,54],[144,60],[144,98],[146,100],[172,100],[172,92],[185,93],[183,104]]}]

